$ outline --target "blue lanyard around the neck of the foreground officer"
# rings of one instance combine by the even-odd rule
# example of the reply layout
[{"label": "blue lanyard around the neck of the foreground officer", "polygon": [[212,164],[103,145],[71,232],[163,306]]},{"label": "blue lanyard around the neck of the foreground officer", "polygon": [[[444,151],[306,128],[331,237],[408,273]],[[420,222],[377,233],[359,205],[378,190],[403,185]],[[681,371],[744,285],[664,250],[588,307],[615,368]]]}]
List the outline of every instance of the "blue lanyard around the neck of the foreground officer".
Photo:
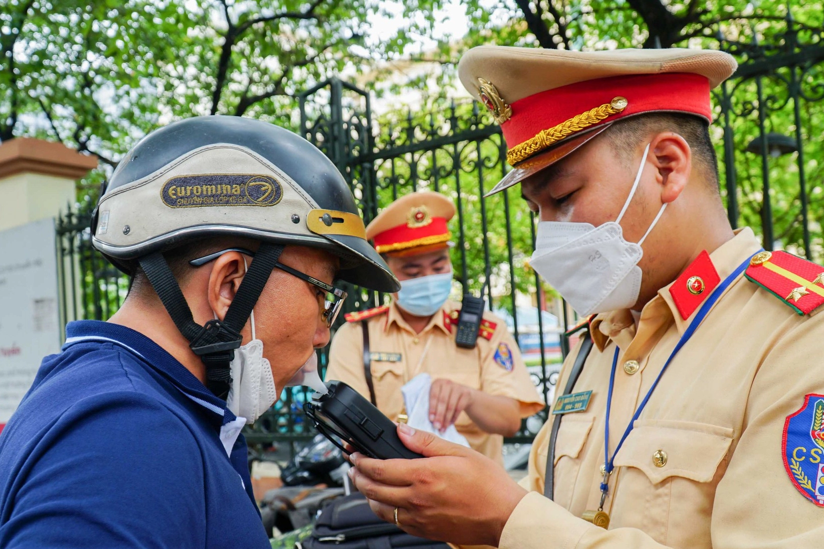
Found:
[{"label": "blue lanyard around the neck of the foreground officer", "polygon": [[[757,252],[756,252],[757,253]],[[752,256],[755,256],[753,254]],[[741,275],[744,270],[747,270],[747,267],[750,265],[750,260],[752,256],[748,257],[746,261],[744,261],[741,265],[738,265],[736,270],[726,278],[723,279],[723,282],[719,284],[718,288],[714,289],[713,293],[709,295],[709,298],[701,305],[699,311],[695,314],[695,318],[692,319],[690,322],[690,326],[687,326],[686,331],[681,336],[681,339],[678,340],[675,349],[672,350],[672,353],[669,355],[667,362],[664,363],[664,367],[661,368],[661,373],[658,373],[658,378],[655,378],[653,382],[653,386],[649,387],[649,391],[647,392],[647,396],[644,397],[644,400],[641,401],[640,406],[638,406],[638,410],[635,411],[634,415],[632,416],[632,420],[630,420],[630,425],[626,426],[626,430],[624,431],[624,436],[620,438],[618,442],[618,446],[616,446],[616,451],[612,453],[612,458],[610,458],[610,407],[612,404],[612,387],[614,387],[615,379],[616,379],[616,366],[618,365],[618,353],[620,349],[616,346],[616,354],[615,357],[612,359],[612,372],[610,373],[610,390],[606,397],[606,425],[604,426],[604,463],[606,465],[606,472],[604,473],[604,480],[601,483],[601,507],[603,508],[604,500],[606,500],[606,493],[609,490],[609,476],[612,470],[615,468],[613,463],[615,462],[616,455],[618,455],[618,451],[620,447],[624,444],[626,438],[630,435],[630,431],[635,424],[635,421],[641,415],[641,412],[644,411],[644,407],[647,406],[647,402],[649,401],[649,397],[652,397],[653,391],[655,387],[658,387],[658,382],[661,381],[661,378],[664,372],[667,371],[667,367],[672,362],[672,359],[675,358],[675,355],[678,354],[678,351],[681,350],[681,347],[686,345],[686,342],[690,340],[692,335],[695,333],[695,330],[698,329],[701,321],[707,316],[709,309],[713,307],[715,302],[719,300],[721,294],[725,289],[729,287],[730,284],[733,284],[733,280],[737,279],[739,275]]]}]

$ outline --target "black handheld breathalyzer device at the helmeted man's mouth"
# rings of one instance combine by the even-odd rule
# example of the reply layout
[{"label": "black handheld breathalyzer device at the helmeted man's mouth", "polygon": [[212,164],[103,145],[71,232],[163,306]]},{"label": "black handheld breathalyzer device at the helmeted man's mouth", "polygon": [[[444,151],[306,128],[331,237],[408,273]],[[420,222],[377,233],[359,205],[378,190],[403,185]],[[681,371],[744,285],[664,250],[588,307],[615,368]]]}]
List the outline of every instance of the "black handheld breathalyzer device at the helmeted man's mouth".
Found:
[{"label": "black handheld breathalyzer device at the helmeted man's mouth", "polygon": [[327,383],[326,387],[329,392],[316,392],[303,405],[303,411],[318,432],[338,448],[349,453],[338,442],[342,439],[369,458],[423,458],[406,448],[397,426],[352,387],[337,381]]}]

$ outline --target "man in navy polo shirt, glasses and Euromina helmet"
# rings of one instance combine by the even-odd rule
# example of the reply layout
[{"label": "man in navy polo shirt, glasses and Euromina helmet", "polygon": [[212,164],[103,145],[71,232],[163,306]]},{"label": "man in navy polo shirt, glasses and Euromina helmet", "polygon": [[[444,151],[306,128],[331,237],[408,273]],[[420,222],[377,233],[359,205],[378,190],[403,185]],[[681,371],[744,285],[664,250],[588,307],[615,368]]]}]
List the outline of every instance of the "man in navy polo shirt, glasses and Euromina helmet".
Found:
[{"label": "man in navy polo shirt, glasses and Euromina helmet", "polygon": [[284,129],[192,118],[126,155],[91,231],[132,288],[0,434],[0,547],[269,547],[243,425],[316,370],[335,278],[399,288],[344,179]]}]

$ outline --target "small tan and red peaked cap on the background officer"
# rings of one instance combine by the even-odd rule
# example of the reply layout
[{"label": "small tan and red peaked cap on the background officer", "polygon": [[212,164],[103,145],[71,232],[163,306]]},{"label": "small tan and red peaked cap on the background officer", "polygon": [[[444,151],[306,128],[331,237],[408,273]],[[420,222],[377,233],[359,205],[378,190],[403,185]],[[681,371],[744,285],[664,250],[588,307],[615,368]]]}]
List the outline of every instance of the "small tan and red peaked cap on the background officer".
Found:
[{"label": "small tan and red peaked cap on the background officer", "polygon": [[409,255],[449,246],[455,204],[431,190],[401,196],[372,219],[366,237],[381,254]]}]

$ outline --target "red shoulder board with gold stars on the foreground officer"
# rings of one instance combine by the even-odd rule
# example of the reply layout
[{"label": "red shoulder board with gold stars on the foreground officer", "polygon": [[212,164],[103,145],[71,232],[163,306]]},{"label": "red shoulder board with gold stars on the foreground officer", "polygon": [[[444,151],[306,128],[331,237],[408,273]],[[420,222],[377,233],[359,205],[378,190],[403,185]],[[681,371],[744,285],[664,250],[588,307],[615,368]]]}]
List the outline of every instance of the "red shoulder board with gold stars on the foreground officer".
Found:
[{"label": "red shoulder board with gold stars on the foreground officer", "polygon": [[762,251],[752,256],[747,279],[806,315],[824,303],[824,267],[786,251]]}]

